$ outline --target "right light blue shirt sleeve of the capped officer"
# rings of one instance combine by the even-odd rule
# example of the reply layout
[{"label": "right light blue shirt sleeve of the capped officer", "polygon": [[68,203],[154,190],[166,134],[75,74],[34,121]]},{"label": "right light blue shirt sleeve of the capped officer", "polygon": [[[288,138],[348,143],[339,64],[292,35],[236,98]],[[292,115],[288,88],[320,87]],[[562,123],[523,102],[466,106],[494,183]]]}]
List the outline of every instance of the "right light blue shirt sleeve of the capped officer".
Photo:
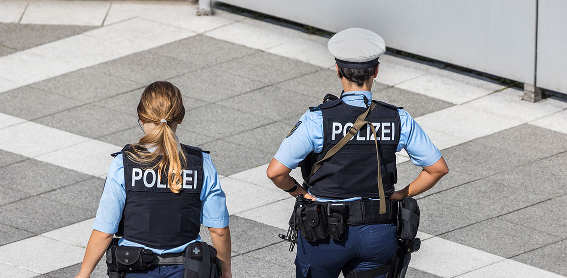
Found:
[{"label": "right light blue shirt sleeve of the capped officer", "polygon": [[429,139],[429,136],[421,129],[416,120],[409,116],[403,109],[398,109],[400,114],[401,132],[400,142],[396,151],[405,149],[414,165],[426,167],[431,166],[441,159],[441,152]]}]

